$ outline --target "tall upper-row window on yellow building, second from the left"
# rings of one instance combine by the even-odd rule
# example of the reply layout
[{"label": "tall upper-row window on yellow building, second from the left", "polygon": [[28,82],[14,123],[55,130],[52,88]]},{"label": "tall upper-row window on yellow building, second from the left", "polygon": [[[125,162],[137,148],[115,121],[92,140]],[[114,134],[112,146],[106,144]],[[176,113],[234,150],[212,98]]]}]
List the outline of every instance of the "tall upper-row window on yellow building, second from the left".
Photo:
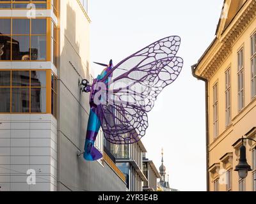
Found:
[{"label": "tall upper-row window on yellow building, second from the left", "polygon": [[225,71],[225,113],[226,113],[226,127],[231,123],[231,69]]}]

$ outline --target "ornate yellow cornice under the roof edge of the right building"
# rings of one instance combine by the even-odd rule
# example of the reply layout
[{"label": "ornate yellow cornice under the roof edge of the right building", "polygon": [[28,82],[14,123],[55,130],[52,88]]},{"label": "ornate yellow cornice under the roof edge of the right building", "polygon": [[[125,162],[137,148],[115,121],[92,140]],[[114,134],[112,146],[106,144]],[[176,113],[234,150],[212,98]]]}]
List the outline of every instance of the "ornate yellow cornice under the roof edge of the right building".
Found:
[{"label": "ornate yellow cornice under the roof edge of the right building", "polygon": [[232,46],[234,42],[241,36],[244,31],[244,28],[250,24],[252,19],[256,15],[256,0],[253,0],[243,11],[241,16],[237,19],[236,23],[229,29],[228,33],[225,34],[225,37],[219,41],[218,51],[213,55],[212,59],[207,64],[207,67],[202,72],[201,76],[204,78],[212,77],[216,69],[220,67],[223,61],[232,51]]}]

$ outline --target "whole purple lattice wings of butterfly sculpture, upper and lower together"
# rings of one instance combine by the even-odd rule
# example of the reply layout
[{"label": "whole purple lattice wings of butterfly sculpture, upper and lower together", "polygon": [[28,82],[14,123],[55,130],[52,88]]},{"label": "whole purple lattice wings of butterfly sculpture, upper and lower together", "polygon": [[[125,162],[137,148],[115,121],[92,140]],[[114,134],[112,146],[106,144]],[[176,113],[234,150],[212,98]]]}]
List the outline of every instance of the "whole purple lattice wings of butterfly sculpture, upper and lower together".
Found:
[{"label": "whole purple lattice wings of butterfly sculpture, upper and lower together", "polygon": [[145,135],[147,112],[152,110],[158,94],[172,84],[182,69],[182,59],[175,56],[179,45],[177,36],[164,38],[111,70],[108,103],[100,106],[102,130],[109,142],[134,143]]}]

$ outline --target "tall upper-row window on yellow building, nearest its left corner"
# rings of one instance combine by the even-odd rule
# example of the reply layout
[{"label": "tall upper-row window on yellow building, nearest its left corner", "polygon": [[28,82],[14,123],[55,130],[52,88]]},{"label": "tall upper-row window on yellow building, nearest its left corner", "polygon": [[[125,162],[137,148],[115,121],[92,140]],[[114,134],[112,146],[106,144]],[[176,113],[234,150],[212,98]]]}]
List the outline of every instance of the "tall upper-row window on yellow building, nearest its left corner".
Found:
[{"label": "tall upper-row window on yellow building, nearest its left corner", "polygon": [[214,84],[212,87],[212,93],[213,93],[213,105],[212,105],[212,110],[213,110],[213,136],[214,139],[218,137],[218,132],[219,132],[219,122],[218,122],[218,82]]}]

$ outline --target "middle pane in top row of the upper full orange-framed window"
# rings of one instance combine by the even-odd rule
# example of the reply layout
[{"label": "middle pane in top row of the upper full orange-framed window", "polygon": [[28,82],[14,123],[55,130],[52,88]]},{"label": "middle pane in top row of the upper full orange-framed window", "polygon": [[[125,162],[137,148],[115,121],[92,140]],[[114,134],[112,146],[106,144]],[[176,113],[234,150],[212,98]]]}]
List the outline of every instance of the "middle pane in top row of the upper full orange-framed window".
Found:
[{"label": "middle pane in top row of the upper full orange-framed window", "polygon": [[12,20],[12,34],[29,34],[29,19],[14,18]]}]

